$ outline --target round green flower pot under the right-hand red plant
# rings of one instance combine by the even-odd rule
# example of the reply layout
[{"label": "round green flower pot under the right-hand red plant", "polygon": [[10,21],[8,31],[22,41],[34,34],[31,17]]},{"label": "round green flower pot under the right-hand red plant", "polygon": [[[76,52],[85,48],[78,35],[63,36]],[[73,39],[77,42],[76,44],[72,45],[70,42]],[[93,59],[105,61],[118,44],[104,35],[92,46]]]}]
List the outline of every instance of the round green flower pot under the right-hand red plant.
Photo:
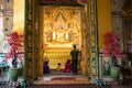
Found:
[{"label": "round green flower pot under the right-hand red plant", "polygon": [[120,78],[120,67],[111,67],[110,75],[113,79]]}]

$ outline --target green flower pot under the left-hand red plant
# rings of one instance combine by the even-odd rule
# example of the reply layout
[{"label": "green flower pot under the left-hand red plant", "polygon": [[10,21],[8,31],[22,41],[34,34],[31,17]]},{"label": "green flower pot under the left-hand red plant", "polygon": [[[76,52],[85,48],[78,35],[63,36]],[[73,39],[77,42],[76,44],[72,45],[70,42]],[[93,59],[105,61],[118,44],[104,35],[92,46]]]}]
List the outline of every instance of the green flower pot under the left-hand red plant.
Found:
[{"label": "green flower pot under the left-hand red plant", "polygon": [[9,70],[9,76],[10,76],[11,81],[16,81],[18,80],[18,73],[19,73],[19,68],[11,68]]}]

